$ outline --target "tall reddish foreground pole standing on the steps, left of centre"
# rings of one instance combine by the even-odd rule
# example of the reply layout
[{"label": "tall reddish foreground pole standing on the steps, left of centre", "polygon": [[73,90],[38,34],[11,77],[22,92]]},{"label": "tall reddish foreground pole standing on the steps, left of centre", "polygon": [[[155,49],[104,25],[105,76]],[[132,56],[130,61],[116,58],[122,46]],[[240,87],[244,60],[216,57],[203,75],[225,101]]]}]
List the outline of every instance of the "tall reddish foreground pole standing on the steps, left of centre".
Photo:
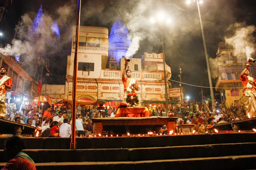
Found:
[{"label": "tall reddish foreground pole standing on the steps, left of centre", "polygon": [[81,0],[78,0],[77,4],[77,18],[76,18],[76,48],[74,57],[74,71],[73,71],[73,93],[72,93],[72,134],[70,149],[76,149],[76,83],[77,83],[77,56],[78,56],[78,45],[79,45],[79,30],[80,30],[80,11],[81,11]]}]

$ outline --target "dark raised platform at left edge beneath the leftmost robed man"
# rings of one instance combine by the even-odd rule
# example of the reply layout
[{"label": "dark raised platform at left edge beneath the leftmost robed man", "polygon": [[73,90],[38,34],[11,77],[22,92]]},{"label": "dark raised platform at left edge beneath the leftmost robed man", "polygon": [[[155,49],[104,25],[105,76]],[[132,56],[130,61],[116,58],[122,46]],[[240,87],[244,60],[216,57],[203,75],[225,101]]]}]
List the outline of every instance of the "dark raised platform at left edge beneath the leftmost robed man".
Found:
[{"label": "dark raised platform at left edge beneath the leftmost robed man", "polygon": [[13,134],[17,136],[29,134],[35,136],[36,131],[36,127],[0,119],[0,134]]}]

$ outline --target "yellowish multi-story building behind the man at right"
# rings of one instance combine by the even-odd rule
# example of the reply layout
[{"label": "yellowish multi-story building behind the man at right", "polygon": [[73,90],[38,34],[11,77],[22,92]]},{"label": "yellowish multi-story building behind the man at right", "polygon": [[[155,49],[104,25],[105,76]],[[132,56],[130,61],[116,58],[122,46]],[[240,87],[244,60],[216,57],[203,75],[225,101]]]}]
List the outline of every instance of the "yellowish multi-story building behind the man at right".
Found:
[{"label": "yellowish multi-story building behind the man at right", "polygon": [[[234,56],[232,45],[228,45],[225,42],[219,43],[214,70],[215,89],[220,92],[221,102],[225,102],[227,108],[236,102],[244,102],[243,85],[239,76],[246,67],[245,64],[247,62],[246,54]],[[255,67],[251,68],[250,76],[254,77],[253,74],[256,70]]]}]

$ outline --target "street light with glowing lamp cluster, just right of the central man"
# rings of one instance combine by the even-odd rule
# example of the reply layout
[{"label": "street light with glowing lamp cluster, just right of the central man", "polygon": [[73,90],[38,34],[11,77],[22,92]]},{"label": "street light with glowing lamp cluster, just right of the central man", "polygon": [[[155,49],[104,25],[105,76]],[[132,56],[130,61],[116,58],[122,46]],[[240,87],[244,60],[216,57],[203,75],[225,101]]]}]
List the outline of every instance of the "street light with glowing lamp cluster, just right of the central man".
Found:
[{"label": "street light with glowing lamp cluster, just right of the central man", "polygon": [[[164,20],[166,20],[166,23],[171,23],[171,19],[166,18],[164,16],[163,12],[160,12],[157,15],[158,20],[160,23],[164,23]],[[151,23],[155,23],[156,20],[154,18],[150,19]],[[163,51],[163,76],[164,76],[164,87],[165,87],[165,98],[166,98],[166,112],[169,113],[169,107],[168,107],[168,91],[167,91],[167,80],[166,80],[166,62],[165,62],[165,53],[164,53],[164,45],[163,45],[163,30],[160,28],[161,35],[162,35],[162,51]]]}]

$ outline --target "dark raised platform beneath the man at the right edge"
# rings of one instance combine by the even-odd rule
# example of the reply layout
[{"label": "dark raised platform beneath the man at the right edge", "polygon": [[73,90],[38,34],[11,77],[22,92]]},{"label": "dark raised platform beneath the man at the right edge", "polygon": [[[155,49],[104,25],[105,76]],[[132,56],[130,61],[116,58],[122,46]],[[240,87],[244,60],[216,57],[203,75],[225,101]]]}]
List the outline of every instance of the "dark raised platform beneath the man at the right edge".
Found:
[{"label": "dark raised platform beneath the man at the right edge", "polygon": [[221,131],[234,130],[234,132],[237,132],[238,130],[250,131],[253,128],[256,128],[256,117],[251,119],[234,121],[234,122],[221,123],[221,124],[214,125],[212,127],[212,129],[217,129]]}]

